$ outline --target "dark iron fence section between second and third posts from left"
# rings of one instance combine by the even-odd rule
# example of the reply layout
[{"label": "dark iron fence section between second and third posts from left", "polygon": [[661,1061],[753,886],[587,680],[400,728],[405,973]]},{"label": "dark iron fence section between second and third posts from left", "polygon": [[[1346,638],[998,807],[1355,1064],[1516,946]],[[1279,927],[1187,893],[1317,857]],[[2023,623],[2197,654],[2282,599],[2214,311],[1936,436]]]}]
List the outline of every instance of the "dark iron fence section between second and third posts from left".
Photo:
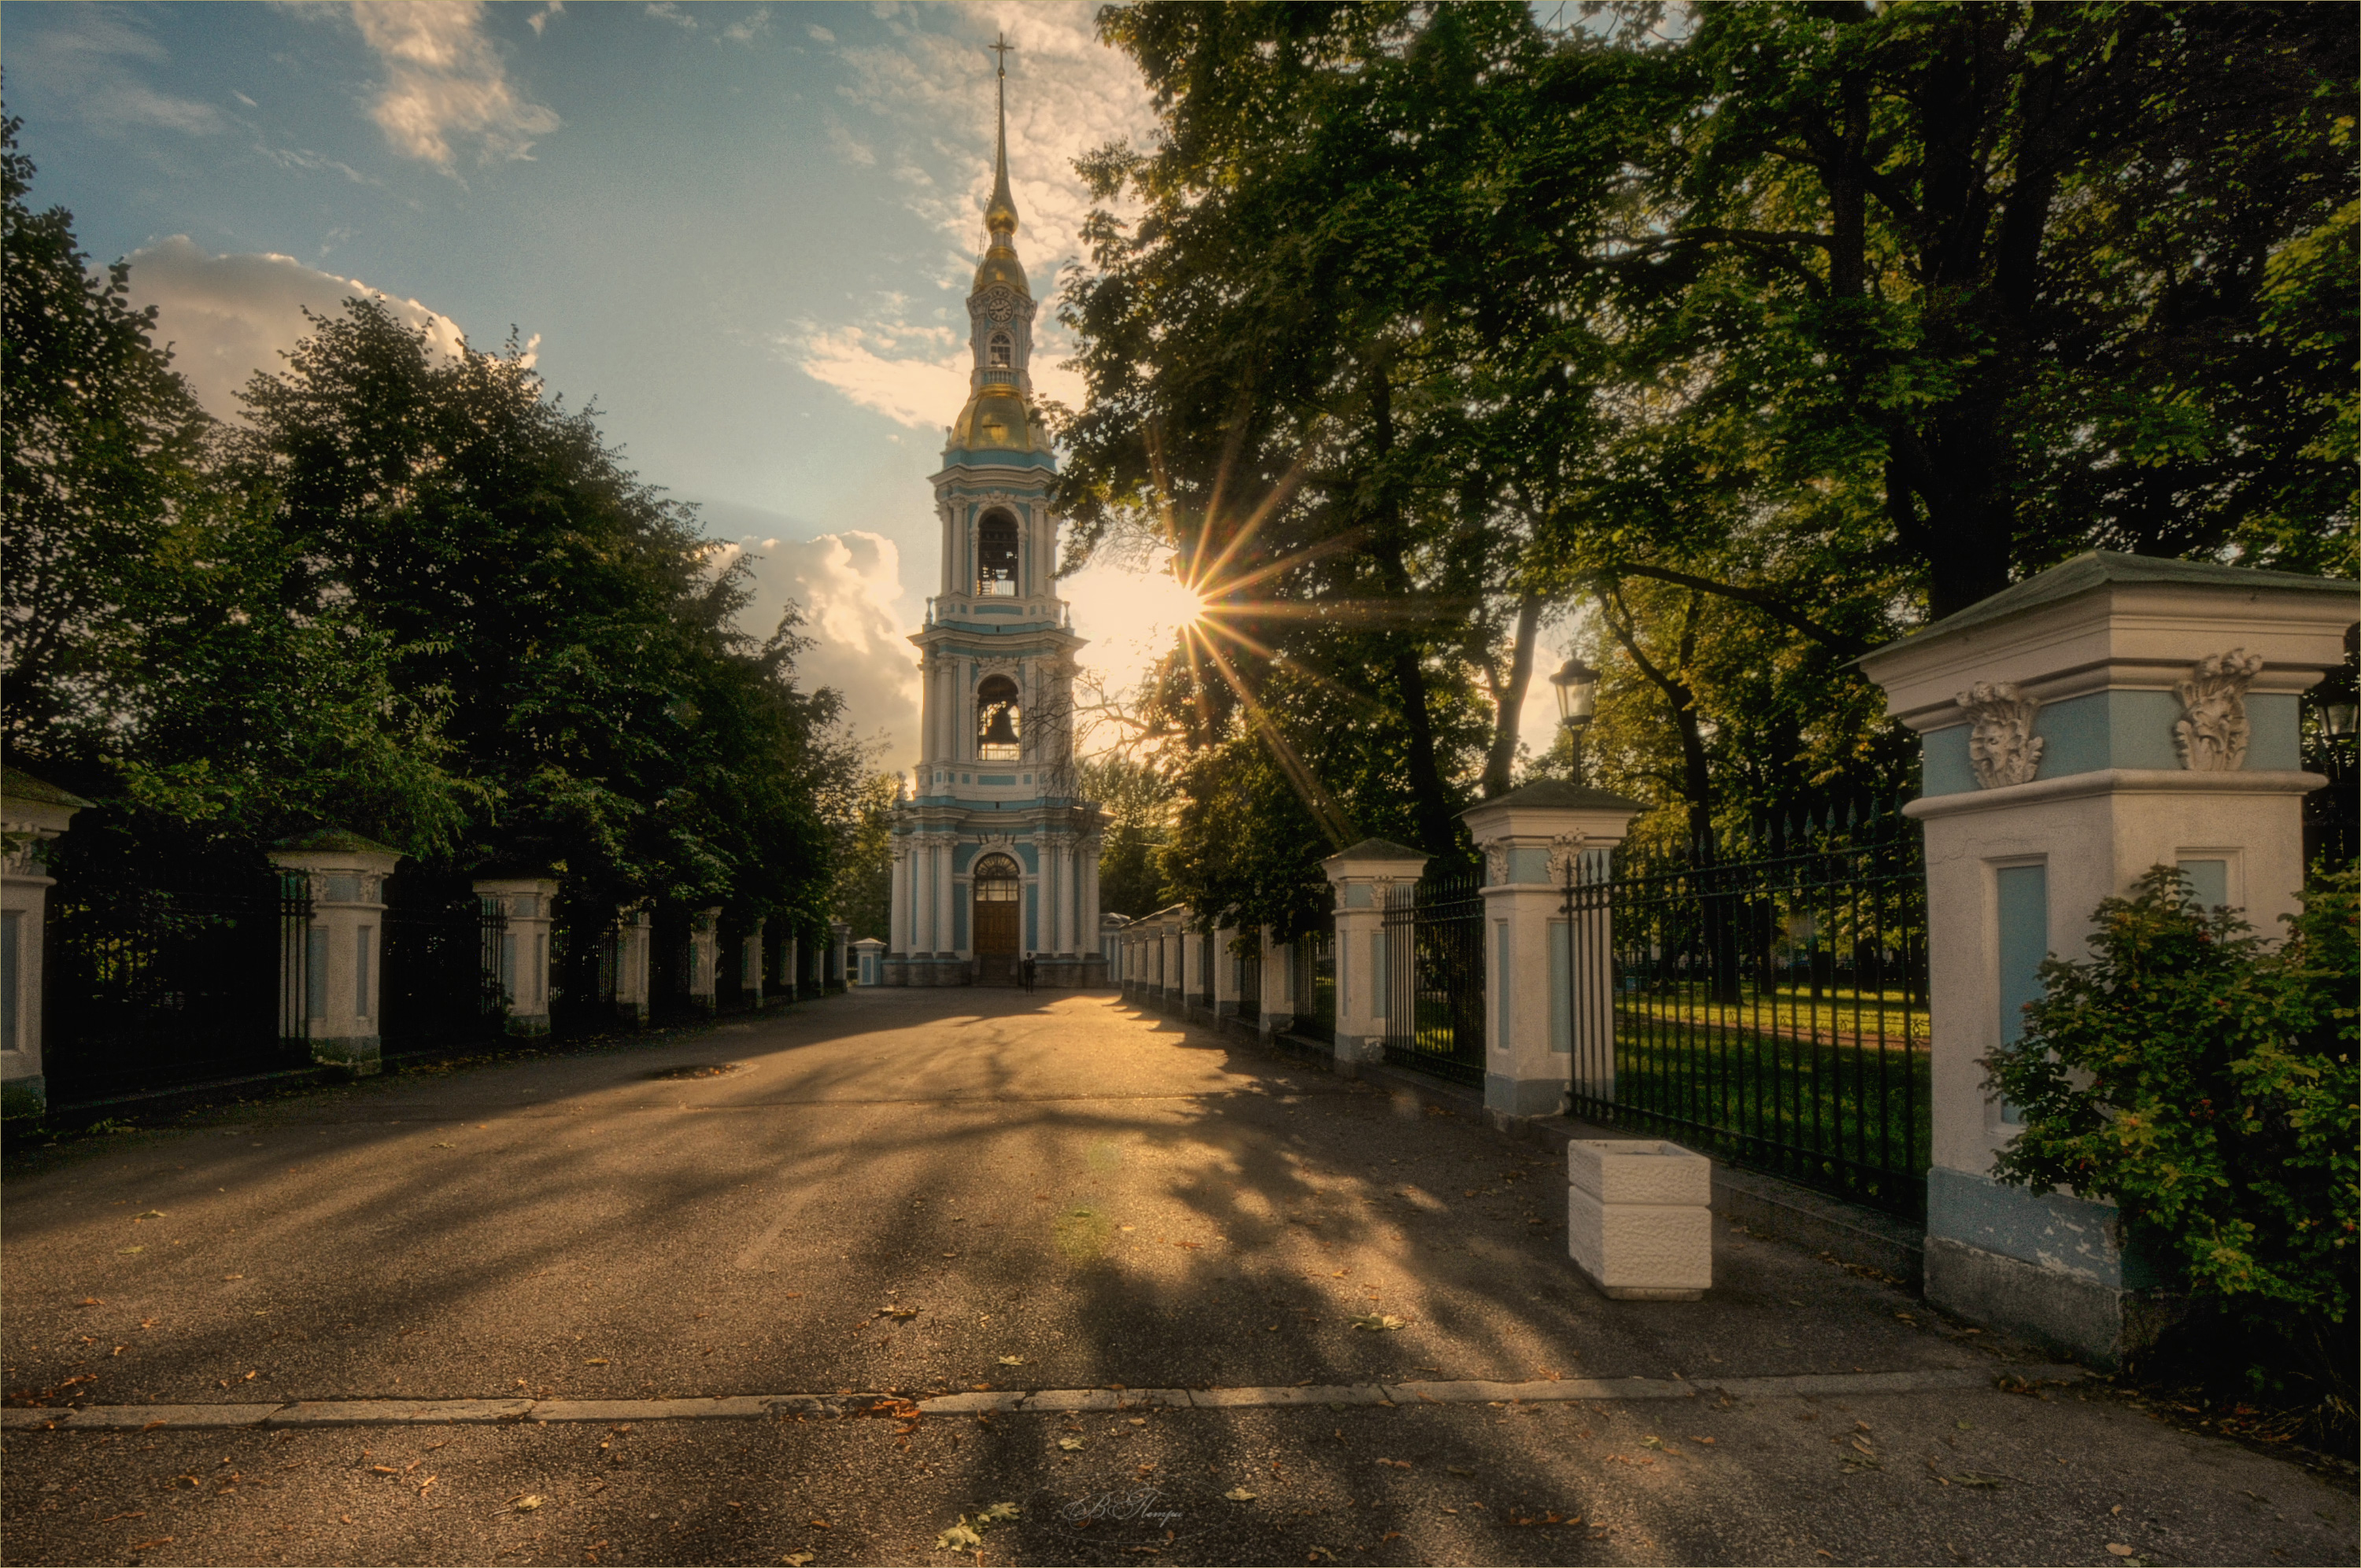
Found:
[{"label": "dark iron fence section between second and third posts from left", "polygon": [[456,1051],[498,1039],[501,900],[465,876],[404,869],[385,878],[385,966],[378,1041],[387,1056]]}]

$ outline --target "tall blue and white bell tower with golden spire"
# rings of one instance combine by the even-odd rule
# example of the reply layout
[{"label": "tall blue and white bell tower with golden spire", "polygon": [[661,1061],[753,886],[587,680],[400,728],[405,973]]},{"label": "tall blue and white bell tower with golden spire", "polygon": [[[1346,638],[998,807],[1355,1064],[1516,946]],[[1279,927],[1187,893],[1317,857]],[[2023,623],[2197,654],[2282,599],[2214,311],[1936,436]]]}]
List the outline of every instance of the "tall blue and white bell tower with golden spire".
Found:
[{"label": "tall blue and white bell tower with golden spire", "polygon": [[968,401],[935,472],[942,581],[911,638],[916,791],[895,812],[885,985],[1103,985],[1098,805],[1077,798],[1074,635],[1058,595],[1058,458],[1032,404],[1039,305],[1008,194],[1008,50],[985,255],[968,290]]}]

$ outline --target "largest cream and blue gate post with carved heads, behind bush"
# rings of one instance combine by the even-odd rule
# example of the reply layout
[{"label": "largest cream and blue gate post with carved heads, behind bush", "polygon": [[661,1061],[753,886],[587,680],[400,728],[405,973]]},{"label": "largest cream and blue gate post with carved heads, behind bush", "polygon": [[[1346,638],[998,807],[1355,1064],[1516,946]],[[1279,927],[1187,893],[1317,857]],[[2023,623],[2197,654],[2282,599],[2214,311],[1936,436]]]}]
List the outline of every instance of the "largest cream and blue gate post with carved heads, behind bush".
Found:
[{"label": "largest cream and blue gate post with carved heads, behind bush", "polygon": [[1927,1299],[2120,1363],[2172,1280],[2111,1204],[1993,1181],[2014,1115],[1981,1058],[2104,897],[2177,864],[2267,937],[2304,883],[2300,694],[2342,664],[2354,583],[2089,553],[1860,659],[1924,739],[1934,1167]]}]

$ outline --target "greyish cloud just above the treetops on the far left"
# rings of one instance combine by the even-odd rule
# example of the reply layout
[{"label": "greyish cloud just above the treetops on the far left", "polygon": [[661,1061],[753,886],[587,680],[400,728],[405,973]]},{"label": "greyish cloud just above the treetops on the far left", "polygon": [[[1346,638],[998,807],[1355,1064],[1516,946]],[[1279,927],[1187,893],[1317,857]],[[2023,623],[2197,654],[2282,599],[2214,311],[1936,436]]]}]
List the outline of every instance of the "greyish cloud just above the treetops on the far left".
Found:
[{"label": "greyish cloud just above the treetops on the far left", "polygon": [[427,328],[442,352],[456,354],[460,345],[451,316],[290,255],[208,255],[187,234],[175,234],[127,260],[132,305],[156,307],[156,340],[172,345],[172,368],[189,378],[215,418],[238,416],[234,394],[255,371],[281,368],[279,354],[309,331],[305,307],[333,316],[347,298],[373,295],[397,319]]}]

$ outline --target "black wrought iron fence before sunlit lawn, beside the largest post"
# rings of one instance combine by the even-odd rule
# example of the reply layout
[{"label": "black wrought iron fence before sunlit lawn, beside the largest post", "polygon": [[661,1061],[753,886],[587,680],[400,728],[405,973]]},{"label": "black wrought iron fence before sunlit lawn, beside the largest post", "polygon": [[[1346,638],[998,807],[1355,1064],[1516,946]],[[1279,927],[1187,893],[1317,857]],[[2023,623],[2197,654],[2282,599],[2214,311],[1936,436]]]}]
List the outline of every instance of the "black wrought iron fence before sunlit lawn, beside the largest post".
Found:
[{"label": "black wrought iron fence before sunlit lawn, beside the largest post", "polygon": [[1922,1216],[1927,869],[1891,803],[1731,845],[1570,857],[1572,1112]]}]

